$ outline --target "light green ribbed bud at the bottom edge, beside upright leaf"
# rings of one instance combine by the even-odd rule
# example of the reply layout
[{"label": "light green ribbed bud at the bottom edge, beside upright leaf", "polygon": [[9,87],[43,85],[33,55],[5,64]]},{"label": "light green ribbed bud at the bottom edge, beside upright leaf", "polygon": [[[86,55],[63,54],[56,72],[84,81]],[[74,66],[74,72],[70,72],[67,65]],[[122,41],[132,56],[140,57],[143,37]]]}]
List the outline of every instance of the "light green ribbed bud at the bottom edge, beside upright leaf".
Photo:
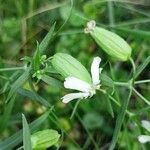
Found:
[{"label": "light green ribbed bud at the bottom edge, beside upright leaf", "polygon": [[58,144],[60,134],[57,131],[46,129],[31,135],[32,148],[36,150],[47,149]]}]

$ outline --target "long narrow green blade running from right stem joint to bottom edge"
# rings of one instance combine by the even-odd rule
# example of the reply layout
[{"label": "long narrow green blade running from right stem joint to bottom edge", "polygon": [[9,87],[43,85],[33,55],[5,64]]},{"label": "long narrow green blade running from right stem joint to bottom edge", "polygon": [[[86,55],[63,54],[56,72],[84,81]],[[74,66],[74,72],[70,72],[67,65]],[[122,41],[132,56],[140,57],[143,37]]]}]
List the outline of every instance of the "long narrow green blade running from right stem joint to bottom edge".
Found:
[{"label": "long narrow green blade running from right stem joint to bottom edge", "polygon": [[123,101],[122,107],[120,108],[120,112],[117,116],[115,131],[114,131],[114,134],[113,134],[113,138],[112,138],[112,142],[111,142],[111,145],[109,147],[109,150],[113,150],[116,146],[118,136],[119,136],[119,132],[120,132],[120,129],[121,129],[124,117],[125,117],[125,113],[126,113],[131,95],[132,95],[132,88],[130,88],[128,98]]}]

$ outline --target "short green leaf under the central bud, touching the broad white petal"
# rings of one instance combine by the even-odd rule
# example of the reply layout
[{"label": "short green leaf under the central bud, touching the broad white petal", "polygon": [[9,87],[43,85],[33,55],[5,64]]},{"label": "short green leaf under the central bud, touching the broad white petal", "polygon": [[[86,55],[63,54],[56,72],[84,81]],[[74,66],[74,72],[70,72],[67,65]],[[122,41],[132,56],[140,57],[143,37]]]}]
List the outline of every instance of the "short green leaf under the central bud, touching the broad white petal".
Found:
[{"label": "short green leaf under the central bud, touching the broad white petal", "polygon": [[56,80],[55,78],[49,77],[47,75],[43,75],[41,80],[53,87],[62,88],[63,86],[60,81]]}]

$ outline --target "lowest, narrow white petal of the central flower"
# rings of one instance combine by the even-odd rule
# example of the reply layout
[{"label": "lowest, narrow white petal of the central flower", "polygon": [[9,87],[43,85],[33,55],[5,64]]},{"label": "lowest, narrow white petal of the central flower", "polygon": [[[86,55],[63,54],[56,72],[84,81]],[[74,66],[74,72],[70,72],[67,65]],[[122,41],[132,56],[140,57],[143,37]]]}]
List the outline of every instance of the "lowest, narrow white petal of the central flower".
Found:
[{"label": "lowest, narrow white petal of the central flower", "polygon": [[64,97],[62,97],[62,101],[63,103],[68,103],[74,99],[83,99],[83,98],[87,98],[89,96],[89,93],[70,93],[65,95]]}]

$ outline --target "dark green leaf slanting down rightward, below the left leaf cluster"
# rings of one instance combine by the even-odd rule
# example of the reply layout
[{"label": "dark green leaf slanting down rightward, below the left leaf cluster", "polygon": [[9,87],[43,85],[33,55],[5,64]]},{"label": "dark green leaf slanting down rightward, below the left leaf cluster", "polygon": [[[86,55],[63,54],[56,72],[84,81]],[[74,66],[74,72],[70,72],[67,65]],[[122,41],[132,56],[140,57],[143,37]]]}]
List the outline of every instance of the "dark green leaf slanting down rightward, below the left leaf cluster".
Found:
[{"label": "dark green leaf slanting down rightward, below the left leaf cluster", "polygon": [[51,107],[50,103],[47,102],[46,99],[44,99],[43,97],[41,97],[39,94],[37,94],[34,91],[29,91],[29,90],[24,89],[24,88],[19,88],[17,90],[17,92],[19,94],[21,94],[22,96],[28,97],[28,98],[30,98],[33,101],[37,101],[37,102],[43,104],[46,107]]}]

